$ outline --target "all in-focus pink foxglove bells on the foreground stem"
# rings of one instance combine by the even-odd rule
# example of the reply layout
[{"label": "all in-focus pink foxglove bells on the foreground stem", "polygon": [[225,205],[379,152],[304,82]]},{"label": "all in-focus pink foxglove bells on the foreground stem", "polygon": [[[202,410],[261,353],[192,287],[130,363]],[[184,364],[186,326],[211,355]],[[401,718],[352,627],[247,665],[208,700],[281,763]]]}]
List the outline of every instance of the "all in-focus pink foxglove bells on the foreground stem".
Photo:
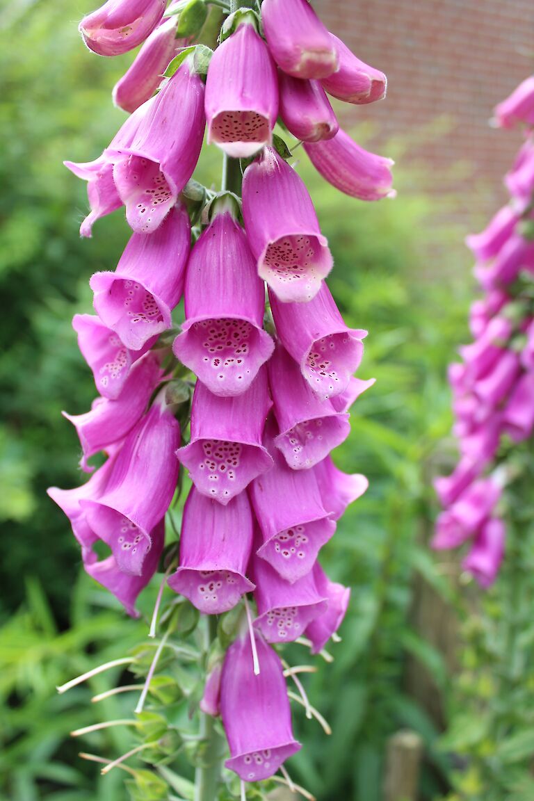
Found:
[{"label": "all in-focus pink foxglove bells on the foreground stem", "polygon": [[[90,412],[66,417],[82,469],[93,470],[96,453],[106,461],[82,487],[49,492],[70,518],[86,571],[136,614],[163,552],[180,465],[187,469],[192,486],[168,585],[211,615],[253,594],[252,629],[239,628],[223,664],[212,666],[201,704],[220,709],[227,767],[252,781],[300,747],[271,644],[305,635],[317,653],[347,609],[349,590],[317,557],[367,489],[330,452],[372,383],[353,376],[367,332],[347,328],[324,283],[331,251],[273,129],[281,119],[348,195],[392,195],[391,160],[340,130],[327,97],[371,103],[386,79],[330,34],[307,0],[263,0],[224,15],[213,52],[203,44],[204,2],[173,3],[165,15],[164,6],[108,0],[80,25],[102,55],[144,41],[114,87],[130,116],[98,159],[66,162],[88,182],[81,234],[121,206],[133,233],[114,272],[90,280],[97,316],[74,317],[100,396]],[[191,181],[205,128],[242,199],[228,180],[218,194]],[[182,298],[176,332],[171,315]]]}]

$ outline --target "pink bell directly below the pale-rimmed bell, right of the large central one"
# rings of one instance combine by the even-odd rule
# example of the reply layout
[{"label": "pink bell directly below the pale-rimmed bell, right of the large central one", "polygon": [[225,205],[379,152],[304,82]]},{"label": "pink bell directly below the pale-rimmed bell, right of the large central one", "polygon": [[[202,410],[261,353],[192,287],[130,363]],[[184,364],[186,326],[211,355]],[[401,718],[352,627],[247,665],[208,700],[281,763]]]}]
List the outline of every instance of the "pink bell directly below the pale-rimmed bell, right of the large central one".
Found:
[{"label": "pink bell directly below the pale-rimmed bell, right of the large central one", "polygon": [[271,290],[269,298],[279,340],[313,391],[323,400],[344,392],[367,331],[347,328],[326,284],[306,304],[283,303]]}]

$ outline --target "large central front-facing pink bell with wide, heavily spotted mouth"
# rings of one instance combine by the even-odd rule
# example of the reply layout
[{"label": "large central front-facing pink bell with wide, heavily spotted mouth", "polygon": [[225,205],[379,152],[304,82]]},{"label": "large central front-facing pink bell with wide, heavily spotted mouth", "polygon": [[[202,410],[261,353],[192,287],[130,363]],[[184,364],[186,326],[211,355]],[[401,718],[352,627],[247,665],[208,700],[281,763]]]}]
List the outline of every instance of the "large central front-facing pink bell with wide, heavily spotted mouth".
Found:
[{"label": "large central front-facing pink bell with wide, heavily spotted mouth", "polygon": [[229,195],[215,201],[212,219],[187,264],[186,321],[175,356],[215,395],[239,395],[271,356],[263,331],[265,292]]}]

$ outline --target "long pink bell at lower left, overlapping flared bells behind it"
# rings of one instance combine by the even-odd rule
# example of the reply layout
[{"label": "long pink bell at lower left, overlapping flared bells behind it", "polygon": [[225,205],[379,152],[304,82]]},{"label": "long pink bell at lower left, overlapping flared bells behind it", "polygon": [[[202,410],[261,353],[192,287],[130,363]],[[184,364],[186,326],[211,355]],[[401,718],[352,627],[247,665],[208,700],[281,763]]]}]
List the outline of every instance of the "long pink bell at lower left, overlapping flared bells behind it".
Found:
[{"label": "long pink bell at lower left, overlapping flared bells behind it", "polygon": [[164,390],[118,451],[106,491],[81,501],[86,519],[110,549],[119,570],[140,575],[151,548],[151,530],[169,508],[178,480],[179,424]]}]

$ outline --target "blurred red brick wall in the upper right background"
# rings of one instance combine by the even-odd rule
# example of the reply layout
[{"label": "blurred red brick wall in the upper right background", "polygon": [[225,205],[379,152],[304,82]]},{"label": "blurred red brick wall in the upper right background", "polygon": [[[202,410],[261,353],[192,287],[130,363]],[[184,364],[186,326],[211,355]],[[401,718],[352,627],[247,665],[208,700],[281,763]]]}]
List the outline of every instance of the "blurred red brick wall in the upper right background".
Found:
[{"label": "blurred red brick wall in the upper right background", "polygon": [[490,192],[496,187],[500,194],[500,178],[520,135],[492,130],[488,119],[495,104],[534,71],[534,0],[313,4],[359,58],[387,74],[387,98],[368,107],[351,107],[345,123],[375,123],[379,135],[372,145],[379,147],[388,137],[420,139],[422,130],[446,115],[448,133],[433,141],[427,137],[424,147],[412,147],[412,152],[419,151],[429,168],[468,161],[472,175],[462,179],[466,189],[473,177],[481,178]]}]

